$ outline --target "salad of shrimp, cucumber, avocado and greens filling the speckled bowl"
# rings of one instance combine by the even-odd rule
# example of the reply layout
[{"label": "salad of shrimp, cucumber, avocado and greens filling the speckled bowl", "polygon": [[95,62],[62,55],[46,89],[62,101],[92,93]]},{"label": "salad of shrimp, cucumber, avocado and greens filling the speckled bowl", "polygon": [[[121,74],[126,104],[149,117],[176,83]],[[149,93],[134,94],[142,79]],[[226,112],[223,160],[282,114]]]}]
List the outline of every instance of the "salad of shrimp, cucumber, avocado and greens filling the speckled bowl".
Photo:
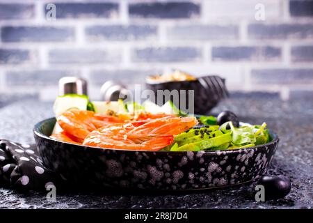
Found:
[{"label": "salad of shrimp, cucumber, avocado and greens filling the speckled bowl", "polygon": [[54,102],[56,125],[51,138],[72,144],[133,151],[225,151],[266,144],[262,125],[240,123],[229,111],[193,116],[168,101],[90,101],[68,94]]}]

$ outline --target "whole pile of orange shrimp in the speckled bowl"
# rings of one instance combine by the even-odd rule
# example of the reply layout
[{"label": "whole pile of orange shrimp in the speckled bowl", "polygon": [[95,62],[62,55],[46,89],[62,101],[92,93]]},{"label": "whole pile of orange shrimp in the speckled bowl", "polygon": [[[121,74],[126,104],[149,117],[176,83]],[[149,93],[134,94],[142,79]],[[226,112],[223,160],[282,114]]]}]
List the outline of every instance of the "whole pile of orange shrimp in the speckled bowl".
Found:
[{"label": "whole pile of orange shrimp in the speckled bowl", "polygon": [[71,109],[57,118],[63,132],[51,138],[65,142],[128,150],[157,151],[174,136],[198,123],[194,117],[142,113],[136,116],[110,116]]}]

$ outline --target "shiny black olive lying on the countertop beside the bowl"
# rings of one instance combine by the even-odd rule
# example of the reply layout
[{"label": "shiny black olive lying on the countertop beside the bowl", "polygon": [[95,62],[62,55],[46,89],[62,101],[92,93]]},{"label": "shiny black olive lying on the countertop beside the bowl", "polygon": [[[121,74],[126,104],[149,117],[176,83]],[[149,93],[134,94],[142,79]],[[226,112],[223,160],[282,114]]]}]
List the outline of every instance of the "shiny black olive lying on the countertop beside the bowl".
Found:
[{"label": "shiny black olive lying on the countertop beside the bowl", "polygon": [[289,194],[291,183],[286,176],[262,176],[259,185],[264,186],[266,201],[280,199]]}]

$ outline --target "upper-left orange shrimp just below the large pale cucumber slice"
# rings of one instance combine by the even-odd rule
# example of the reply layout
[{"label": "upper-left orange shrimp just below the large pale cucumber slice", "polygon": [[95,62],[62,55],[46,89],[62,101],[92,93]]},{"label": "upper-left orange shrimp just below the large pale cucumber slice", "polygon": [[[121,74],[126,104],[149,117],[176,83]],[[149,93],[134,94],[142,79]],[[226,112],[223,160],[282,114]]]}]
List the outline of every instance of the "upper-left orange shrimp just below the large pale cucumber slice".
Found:
[{"label": "upper-left orange shrimp just below the large pale cucumber slice", "polygon": [[83,141],[90,132],[102,128],[109,123],[121,123],[124,120],[116,116],[96,114],[91,111],[71,109],[56,118],[61,128],[77,139]]}]

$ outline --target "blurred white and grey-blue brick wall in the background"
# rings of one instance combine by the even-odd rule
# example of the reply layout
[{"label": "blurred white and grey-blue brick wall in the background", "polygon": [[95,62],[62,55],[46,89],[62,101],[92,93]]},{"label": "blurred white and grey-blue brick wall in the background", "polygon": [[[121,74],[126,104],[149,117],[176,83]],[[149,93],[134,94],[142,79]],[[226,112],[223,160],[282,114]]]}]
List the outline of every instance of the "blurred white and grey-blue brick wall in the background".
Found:
[{"label": "blurred white and grey-blue brick wall in the background", "polygon": [[53,100],[74,75],[96,99],[107,79],[143,83],[170,68],[220,74],[232,91],[313,95],[313,1],[0,1],[1,94]]}]

